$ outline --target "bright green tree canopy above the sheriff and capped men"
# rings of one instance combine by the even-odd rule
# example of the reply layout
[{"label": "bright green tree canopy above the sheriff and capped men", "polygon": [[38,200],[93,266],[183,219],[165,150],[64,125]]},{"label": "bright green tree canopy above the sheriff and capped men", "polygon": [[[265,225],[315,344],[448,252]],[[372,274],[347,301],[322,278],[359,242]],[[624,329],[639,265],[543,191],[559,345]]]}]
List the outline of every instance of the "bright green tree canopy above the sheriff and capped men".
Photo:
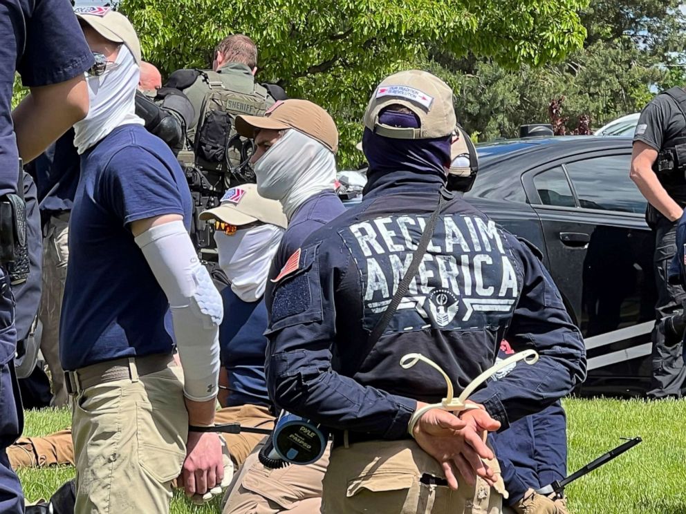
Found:
[{"label": "bright green tree canopy above the sheriff and capped men", "polygon": [[259,48],[259,78],[326,108],[341,132],[342,165],[358,160],[373,86],[400,68],[452,56],[507,69],[542,66],[582,48],[587,0],[123,0],[144,58],[163,74],[207,67],[225,35]]}]

